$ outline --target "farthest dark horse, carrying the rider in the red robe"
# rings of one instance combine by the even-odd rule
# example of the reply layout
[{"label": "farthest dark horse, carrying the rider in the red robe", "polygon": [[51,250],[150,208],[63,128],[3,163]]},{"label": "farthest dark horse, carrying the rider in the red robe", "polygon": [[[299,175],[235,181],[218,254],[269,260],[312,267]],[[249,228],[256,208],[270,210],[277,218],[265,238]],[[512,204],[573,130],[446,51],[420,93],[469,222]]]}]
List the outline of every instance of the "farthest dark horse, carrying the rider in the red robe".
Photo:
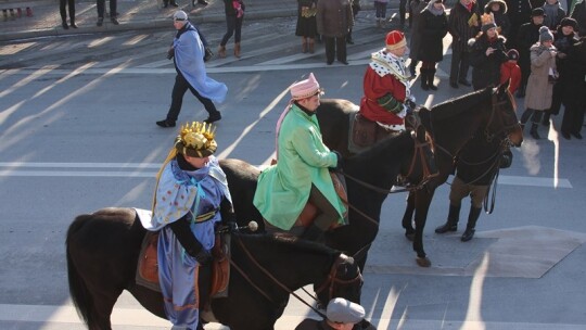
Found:
[{"label": "farthest dark horse, carrying the rider in the red robe", "polygon": [[[321,101],[317,116],[328,147],[349,153],[349,116],[357,110],[357,105],[346,100]],[[429,267],[431,262],[423,250],[423,228],[428,211],[435,189],[453,173],[454,158],[459,150],[479,130],[484,132],[486,139],[508,139],[514,145],[521,144],[523,135],[507,82],[497,88],[486,88],[448,100],[431,110],[421,107],[418,113],[423,127],[433,138],[437,176],[426,181],[424,189],[409,192],[403,227],[405,234],[413,241],[418,265]],[[413,228],[411,219],[416,210]]]}]

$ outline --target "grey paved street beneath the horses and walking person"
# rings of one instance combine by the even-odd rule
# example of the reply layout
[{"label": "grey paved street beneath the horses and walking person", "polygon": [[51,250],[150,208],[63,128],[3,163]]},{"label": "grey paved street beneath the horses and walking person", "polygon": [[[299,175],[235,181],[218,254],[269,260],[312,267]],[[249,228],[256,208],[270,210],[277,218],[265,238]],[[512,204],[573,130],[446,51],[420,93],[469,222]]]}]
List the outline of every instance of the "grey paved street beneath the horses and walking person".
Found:
[{"label": "grey paved street beneath the horses and walking person", "polygon": [[[301,54],[294,18],[246,22],[242,59],[207,64],[209,75],[229,88],[218,106],[218,157],[267,164],[286,88],[309,72],[327,98],[358,103],[369,54],[384,40],[371,14],[359,14],[348,66],[327,66],[321,45],[315,54]],[[201,28],[216,51],[224,23]],[[154,176],[176,135],[154,124],[170,102],[175,69],[165,54],[173,36],[169,24],[0,43],[0,329],[85,329],[68,299],[65,232],[78,214],[150,207]],[[423,92],[413,81],[418,103],[471,91],[447,84],[448,45],[446,38],[440,90]],[[522,100],[518,105],[522,111]],[[187,94],[180,122],[205,117]],[[436,191],[424,237],[430,268],[416,265],[400,228],[406,195],[387,198],[362,293],[379,329],[586,329],[586,143],[559,141],[560,122],[553,118],[549,139],[542,126],[542,140],[526,137],[513,150],[495,212],[481,215],[472,241],[461,243],[461,230],[433,232],[446,218],[449,186]],[[307,314],[292,297],[277,329],[293,329]],[[113,323],[119,330],[170,328],[129,294],[116,304]]]}]

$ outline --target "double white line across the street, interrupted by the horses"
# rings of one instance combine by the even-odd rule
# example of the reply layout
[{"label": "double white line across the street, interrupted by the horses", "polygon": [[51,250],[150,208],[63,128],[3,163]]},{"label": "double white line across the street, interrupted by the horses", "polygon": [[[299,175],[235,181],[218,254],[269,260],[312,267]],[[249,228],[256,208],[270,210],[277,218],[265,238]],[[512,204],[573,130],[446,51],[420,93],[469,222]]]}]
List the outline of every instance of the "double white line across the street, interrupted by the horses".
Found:
[{"label": "double white line across the street, interrupted by the horses", "polygon": [[[155,177],[162,164],[157,163],[24,163],[0,162],[0,177]],[[28,168],[39,168],[28,169]],[[49,169],[48,168],[55,168]],[[87,170],[87,169],[112,170]],[[115,170],[120,169],[120,170]],[[128,170],[125,170],[128,169]],[[543,188],[573,188],[570,180],[559,178],[506,176],[498,177],[499,185]]]}]

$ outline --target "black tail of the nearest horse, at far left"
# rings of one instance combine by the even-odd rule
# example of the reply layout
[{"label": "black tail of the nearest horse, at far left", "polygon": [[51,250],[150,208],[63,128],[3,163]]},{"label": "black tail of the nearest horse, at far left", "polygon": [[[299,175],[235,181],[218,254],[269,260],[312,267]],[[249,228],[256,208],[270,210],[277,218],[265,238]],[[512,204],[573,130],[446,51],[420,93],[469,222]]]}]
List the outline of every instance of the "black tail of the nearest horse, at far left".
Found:
[{"label": "black tail of the nearest horse, at far left", "polygon": [[77,314],[80,318],[84,319],[86,325],[94,323],[98,319],[95,315],[95,308],[91,292],[88,289],[88,285],[77,271],[75,262],[72,258],[72,249],[77,246],[72,246],[72,238],[84,227],[84,225],[91,218],[91,215],[84,214],[75,218],[75,220],[69,225],[67,229],[67,237],[65,240],[65,254],[67,256],[67,279],[69,282],[69,295],[72,301],[77,309]]}]

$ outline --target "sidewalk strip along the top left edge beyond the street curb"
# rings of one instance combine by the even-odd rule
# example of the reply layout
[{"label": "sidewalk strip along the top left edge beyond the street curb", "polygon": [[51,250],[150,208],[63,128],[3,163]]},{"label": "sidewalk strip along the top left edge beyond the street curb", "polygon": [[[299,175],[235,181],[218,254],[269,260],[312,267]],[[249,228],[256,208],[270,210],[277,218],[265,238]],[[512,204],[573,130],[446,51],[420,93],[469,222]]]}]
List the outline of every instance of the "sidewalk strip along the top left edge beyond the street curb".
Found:
[{"label": "sidewalk strip along the top left edge beyond the street curb", "polygon": [[[190,21],[195,23],[225,22],[222,0],[208,0],[208,5],[191,5],[191,0],[177,0],[179,8],[163,8],[162,0],[118,0],[118,22],[114,25],[104,17],[104,25],[98,27],[98,10],[95,1],[76,1],[76,25],[79,28],[63,29],[59,13],[59,1],[39,1],[37,5],[30,5],[33,16],[26,16],[26,9],[22,9],[21,17],[16,17],[18,3],[14,2],[14,16],[10,12],[8,17],[0,13],[0,41],[25,39],[47,36],[66,36],[75,34],[95,34],[104,31],[136,30],[145,28],[168,28],[173,13],[183,10],[189,14]],[[30,3],[27,1],[26,3]],[[246,20],[262,20],[270,17],[293,16],[297,14],[297,1],[295,0],[245,0]],[[106,1],[106,11],[109,2]],[[67,21],[68,22],[68,21]]]}]

